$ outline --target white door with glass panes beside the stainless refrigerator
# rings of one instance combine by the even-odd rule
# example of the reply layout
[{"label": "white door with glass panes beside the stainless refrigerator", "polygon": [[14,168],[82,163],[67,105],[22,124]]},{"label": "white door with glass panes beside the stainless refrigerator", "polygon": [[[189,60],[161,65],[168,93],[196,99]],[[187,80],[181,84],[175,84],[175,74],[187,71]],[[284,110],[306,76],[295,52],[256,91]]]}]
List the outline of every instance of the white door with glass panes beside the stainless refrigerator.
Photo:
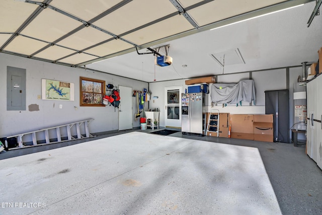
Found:
[{"label": "white door with glass panes beside the stainless refrigerator", "polygon": [[165,87],[165,126],[181,128],[182,86]]}]

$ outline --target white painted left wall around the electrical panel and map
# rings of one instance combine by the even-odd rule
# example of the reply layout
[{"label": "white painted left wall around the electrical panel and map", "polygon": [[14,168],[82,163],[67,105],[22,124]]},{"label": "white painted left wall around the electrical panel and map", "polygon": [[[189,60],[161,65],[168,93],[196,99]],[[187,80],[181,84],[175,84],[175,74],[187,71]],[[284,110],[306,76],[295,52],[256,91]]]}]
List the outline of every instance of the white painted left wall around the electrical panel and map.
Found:
[{"label": "white painted left wall around the electrical panel and map", "polygon": [[[7,66],[26,69],[26,111],[7,111]],[[113,73],[113,71],[111,71]],[[16,135],[46,127],[68,124],[94,118],[90,123],[90,132],[105,132],[118,130],[118,109],[113,106],[106,107],[80,107],[79,106],[79,77],[87,77],[106,81],[114,86],[122,85],[132,87],[133,90],[142,91],[148,88],[148,83],[118,77],[97,71],[72,68],[39,60],[18,57],[0,53],[0,137]],[[52,79],[74,83],[75,101],[52,101],[38,99],[41,95],[41,79]],[[122,102],[122,95],[121,102]],[[31,104],[39,105],[39,111],[29,111]],[[59,105],[63,108],[59,109]],[[136,100],[132,97],[133,127],[139,127],[139,120],[135,120]],[[62,132],[62,136],[64,136]],[[38,138],[37,138],[38,139]]]}]

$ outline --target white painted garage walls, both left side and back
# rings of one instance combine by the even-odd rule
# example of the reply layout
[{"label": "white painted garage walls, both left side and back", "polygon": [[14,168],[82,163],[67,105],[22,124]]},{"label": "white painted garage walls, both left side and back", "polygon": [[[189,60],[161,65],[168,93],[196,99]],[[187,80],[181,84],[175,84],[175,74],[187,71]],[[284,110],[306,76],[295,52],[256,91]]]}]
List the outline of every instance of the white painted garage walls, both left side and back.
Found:
[{"label": "white painted garage walls, both left side and back", "polygon": [[[26,68],[27,70],[27,110],[26,111],[7,111],[6,109],[6,90],[7,90],[7,66]],[[113,71],[111,71],[113,73]],[[289,81],[290,92],[290,126],[293,124],[293,84],[297,82],[297,77],[302,74],[301,67],[290,68],[289,80],[286,80],[285,69],[272,69],[267,71],[253,71],[252,78],[255,81],[257,104],[250,105],[242,103],[242,106],[228,105],[222,107],[208,106],[219,109],[220,112],[231,114],[265,114],[265,91],[286,89]],[[146,88],[151,92],[151,100],[145,105],[145,110],[158,108],[160,110],[160,126],[165,126],[165,87],[183,86],[183,91],[188,89],[185,80],[173,80],[166,82],[145,83],[131,80],[111,74],[100,73],[98,71],[85,70],[81,68],[71,68],[43,61],[18,57],[0,53],[0,91],[3,92],[0,102],[0,137],[15,135],[18,133],[33,131],[45,127],[81,121],[88,118],[95,120],[90,124],[90,132],[98,133],[105,131],[118,130],[118,111],[114,111],[113,106],[107,107],[80,107],[79,106],[79,76],[93,79],[105,80],[106,84],[114,86],[122,85],[132,87],[133,90],[143,90]],[[237,83],[243,79],[249,79],[250,73],[226,74],[218,76],[217,83]],[[75,101],[51,101],[38,99],[41,95],[41,79],[53,79],[75,84]],[[209,86],[211,88],[211,86]],[[122,102],[122,95],[121,102]],[[158,97],[153,99],[153,97]],[[39,111],[29,111],[31,104],[39,105]],[[59,105],[63,105],[59,109]],[[209,96],[209,104],[210,96]],[[136,112],[136,100],[132,97],[132,119],[133,127],[139,127],[138,118],[134,117]],[[63,135],[63,133],[62,133]]]}]

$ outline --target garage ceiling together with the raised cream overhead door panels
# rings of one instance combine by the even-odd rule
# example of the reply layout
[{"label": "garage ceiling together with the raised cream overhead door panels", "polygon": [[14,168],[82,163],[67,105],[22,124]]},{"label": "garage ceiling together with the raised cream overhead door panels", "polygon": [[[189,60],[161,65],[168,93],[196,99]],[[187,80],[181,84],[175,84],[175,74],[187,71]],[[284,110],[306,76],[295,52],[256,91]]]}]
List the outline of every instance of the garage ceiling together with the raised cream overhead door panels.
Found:
[{"label": "garage ceiling together with the raised cream overhead door panels", "polygon": [[[261,53],[266,53],[270,46],[283,45],[279,41],[261,47],[261,37],[287,33],[285,30],[294,25],[305,26],[315,6],[315,2],[310,0],[0,0],[0,3],[0,17],[3,21],[0,23],[1,52],[66,66],[91,68],[146,82],[221,74],[222,65],[211,55],[217,53],[218,57],[218,53],[228,50],[240,51],[245,60],[245,65],[239,69],[236,69],[235,64],[231,65],[230,71],[225,68],[228,73],[261,69],[252,61],[258,59],[261,62]],[[234,24],[233,28],[218,28],[301,4],[307,6],[280,12],[290,13],[288,16],[284,14],[282,19],[268,15],[269,18],[257,18],[259,21]],[[278,23],[274,23],[276,18]],[[303,24],[293,23],[296,18],[300,18]],[[283,25],[285,20],[287,26],[281,29],[279,25]],[[275,30],[267,32],[261,26],[265,22],[274,23]],[[269,23],[264,25],[272,27]],[[318,31],[318,38],[320,26],[320,23],[314,25],[313,22],[310,27],[312,32]],[[217,29],[210,31],[213,28]],[[292,40],[291,37],[297,35],[287,35],[286,39]],[[308,50],[315,54],[322,41],[316,38],[312,44],[305,38],[298,38],[296,44],[299,43],[305,43],[306,49],[317,44],[316,50],[311,50],[313,47]],[[139,53],[148,53],[148,47],[161,53],[163,48],[157,47],[168,44],[169,55],[174,62],[166,67],[155,68],[154,56],[139,55],[135,48]],[[288,63],[294,65],[294,62],[285,63],[281,66],[289,66]],[[300,63],[297,61],[295,64]],[[271,63],[269,67],[275,64]],[[262,63],[263,66],[266,65]]]}]

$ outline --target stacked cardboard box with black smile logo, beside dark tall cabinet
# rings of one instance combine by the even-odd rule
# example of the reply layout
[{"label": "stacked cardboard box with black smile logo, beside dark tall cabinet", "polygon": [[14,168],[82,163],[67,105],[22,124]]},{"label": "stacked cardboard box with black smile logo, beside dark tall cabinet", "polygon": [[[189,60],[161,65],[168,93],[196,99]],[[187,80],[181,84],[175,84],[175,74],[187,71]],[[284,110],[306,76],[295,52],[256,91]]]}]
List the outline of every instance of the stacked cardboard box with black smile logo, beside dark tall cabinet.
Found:
[{"label": "stacked cardboard box with black smile logo, beside dark tall cabinet", "polygon": [[273,142],[273,114],[254,115],[254,140]]}]

